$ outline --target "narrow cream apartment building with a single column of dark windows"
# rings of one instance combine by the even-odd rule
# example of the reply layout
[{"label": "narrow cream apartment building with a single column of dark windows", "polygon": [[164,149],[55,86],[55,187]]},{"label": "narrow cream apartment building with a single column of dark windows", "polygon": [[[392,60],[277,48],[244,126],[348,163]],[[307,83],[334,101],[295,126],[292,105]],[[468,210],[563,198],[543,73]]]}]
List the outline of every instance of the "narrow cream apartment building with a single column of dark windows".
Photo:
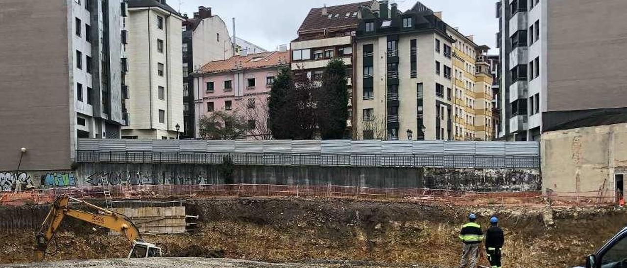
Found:
[{"label": "narrow cream apartment building with a single column of dark windows", "polygon": [[127,126],[122,138],[175,139],[184,128],[182,17],[166,0],[127,0]]}]

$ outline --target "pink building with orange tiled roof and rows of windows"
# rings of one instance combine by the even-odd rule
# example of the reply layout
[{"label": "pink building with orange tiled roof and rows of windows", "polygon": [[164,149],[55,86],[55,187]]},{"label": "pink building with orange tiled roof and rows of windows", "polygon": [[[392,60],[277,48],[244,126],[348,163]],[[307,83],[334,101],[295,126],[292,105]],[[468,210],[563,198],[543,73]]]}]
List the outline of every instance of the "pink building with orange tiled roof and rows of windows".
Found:
[{"label": "pink building with orange tiled roof and rows of windows", "polygon": [[230,111],[248,120],[248,140],[267,140],[268,97],[279,68],[289,66],[289,51],[233,56],[211,61],[194,78],[196,137],[198,121],[213,111]]}]

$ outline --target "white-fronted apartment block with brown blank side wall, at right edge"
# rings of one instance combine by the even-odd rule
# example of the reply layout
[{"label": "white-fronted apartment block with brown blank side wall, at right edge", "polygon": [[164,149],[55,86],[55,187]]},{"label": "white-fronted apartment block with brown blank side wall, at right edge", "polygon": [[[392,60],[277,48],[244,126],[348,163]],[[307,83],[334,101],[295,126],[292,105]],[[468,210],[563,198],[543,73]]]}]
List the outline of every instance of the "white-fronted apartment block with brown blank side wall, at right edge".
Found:
[{"label": "white-fronted apartment block with brown blank side wall, at right edge", "polygon": [[619,0],[498,1],[505,140],[627,121]]}]

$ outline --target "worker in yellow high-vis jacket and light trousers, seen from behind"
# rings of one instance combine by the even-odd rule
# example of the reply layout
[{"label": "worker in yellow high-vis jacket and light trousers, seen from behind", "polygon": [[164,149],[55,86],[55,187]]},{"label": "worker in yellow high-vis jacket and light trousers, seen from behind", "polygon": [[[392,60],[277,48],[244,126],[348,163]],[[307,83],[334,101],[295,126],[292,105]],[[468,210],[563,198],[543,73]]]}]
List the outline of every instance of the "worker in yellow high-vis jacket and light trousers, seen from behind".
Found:
[{"label": "worker in yellow high-vis jacket and light trousers, seen from behind", "polygon": [[479,259],[479,243],[483,240],[483,231],[477,223],[477,215],[468,215],[468,223],[461,227],[460,240],[463,242],[460,268],[476,268]]}]

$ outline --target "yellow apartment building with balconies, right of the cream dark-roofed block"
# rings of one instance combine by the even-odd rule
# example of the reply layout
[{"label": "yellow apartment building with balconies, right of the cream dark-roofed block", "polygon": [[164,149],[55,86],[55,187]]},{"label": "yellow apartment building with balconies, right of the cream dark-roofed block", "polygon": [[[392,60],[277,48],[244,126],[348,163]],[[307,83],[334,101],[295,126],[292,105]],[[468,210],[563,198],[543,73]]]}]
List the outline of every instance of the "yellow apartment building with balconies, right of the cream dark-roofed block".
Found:
[{"label": "yellow apartment building with balconies, right of the cream dark-roofed block", "polygon": [[453,43],[454,140],[492,140],[492,75],[487,46],[448,27]]}]

